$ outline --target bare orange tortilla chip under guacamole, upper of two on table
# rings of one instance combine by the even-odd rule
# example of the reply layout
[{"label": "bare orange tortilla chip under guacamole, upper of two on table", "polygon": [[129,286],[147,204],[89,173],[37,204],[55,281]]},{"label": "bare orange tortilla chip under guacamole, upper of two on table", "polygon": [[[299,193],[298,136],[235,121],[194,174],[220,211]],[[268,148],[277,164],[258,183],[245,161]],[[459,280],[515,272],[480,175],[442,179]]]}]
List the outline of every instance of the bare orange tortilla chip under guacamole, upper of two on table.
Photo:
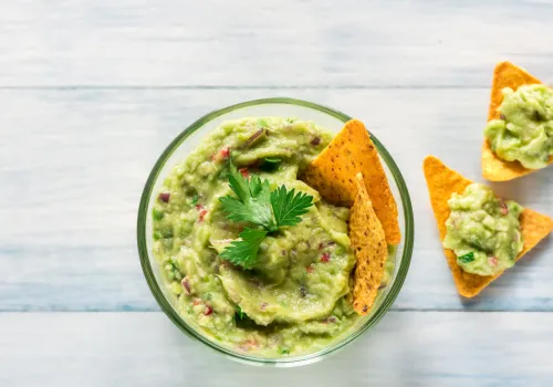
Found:
[{"label": "bare orange tortilla chip under guacamole, upper of two on table", "polygon": [[[517,90],[522,85],[542,83],[536,77],[530,75],[526,71],[515,66],[510,62],[500,62],[493,71],[493,84],[491,88],[490,109],[488,121],[499,118],[499,107],[503,102],[505,87]],[[550,164],[553,163],[553,156],[550,157]],[[531,174],[539,169],[524,168],[519,161],[505,161],[499,158],[490,147],[490,143],[484,138],[482,147],[482,176],[490,181],[507,181],[518,177]]]}]

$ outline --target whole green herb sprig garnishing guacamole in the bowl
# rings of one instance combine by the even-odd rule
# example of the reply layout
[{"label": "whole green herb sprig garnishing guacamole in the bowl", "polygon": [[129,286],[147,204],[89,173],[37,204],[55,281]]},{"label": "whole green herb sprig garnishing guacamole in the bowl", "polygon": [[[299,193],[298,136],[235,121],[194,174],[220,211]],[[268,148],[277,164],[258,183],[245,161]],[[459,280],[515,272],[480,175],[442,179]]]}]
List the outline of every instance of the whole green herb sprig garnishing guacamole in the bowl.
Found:
[{"label": "whole green herb sprig garnishing guacamole in the bowl", "polygon": [[282,227],[300,223],[300,217],[307,213],[313,206],[313,197],[296,192],[295,189],[289,191],[285,186],[280,186],[271,192],[267,179],[259,176],[243,177],[232,161],[228,179],[237,198],[229,195],[219,198],[227,219],[248,221],[262,229],[246,228],[240,232],[240,239],[232,241],[220,257],[244,269],[251,269],[263,239]]}]

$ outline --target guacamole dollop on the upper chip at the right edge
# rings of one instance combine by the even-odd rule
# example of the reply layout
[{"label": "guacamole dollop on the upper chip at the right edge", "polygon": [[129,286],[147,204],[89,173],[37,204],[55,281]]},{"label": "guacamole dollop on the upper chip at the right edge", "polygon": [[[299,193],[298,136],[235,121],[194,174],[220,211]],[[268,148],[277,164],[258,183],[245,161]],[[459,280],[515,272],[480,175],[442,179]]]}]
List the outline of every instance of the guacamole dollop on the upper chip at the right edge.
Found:
[{"label": "guacamole dollop on the upper chip at the right edge", "polygon": [[553,155],[553,90],[525,85],[515,92],[503,90],[501,119],[484,129],[491,149],[503,160],[519,160],[529,169],[547,166]]}]

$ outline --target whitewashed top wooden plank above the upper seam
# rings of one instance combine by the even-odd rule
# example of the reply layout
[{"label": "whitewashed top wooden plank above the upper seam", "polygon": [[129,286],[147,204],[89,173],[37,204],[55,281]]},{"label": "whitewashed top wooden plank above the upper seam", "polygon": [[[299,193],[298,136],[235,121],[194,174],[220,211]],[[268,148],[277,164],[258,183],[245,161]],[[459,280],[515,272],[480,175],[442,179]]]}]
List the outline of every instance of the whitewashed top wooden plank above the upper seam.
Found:
[{"label": "whitewashed top wooden plank above the upper seam", "polygon": [[549,0],[3,2],[1,86],[480,86],[544,81]]}]

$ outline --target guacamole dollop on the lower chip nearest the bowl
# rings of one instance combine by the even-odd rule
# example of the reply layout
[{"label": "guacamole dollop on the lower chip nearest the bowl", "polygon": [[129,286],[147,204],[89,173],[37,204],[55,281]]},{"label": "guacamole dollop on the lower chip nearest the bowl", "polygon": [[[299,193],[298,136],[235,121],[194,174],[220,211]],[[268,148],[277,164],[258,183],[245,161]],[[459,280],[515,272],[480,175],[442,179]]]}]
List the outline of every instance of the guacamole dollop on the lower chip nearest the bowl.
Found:
[{"label": "guacamole dollop on the lower chip nearest the bowl", "polygon": [[493,275],[514,264],[524,244],[520,205],[498,199],[490,188],[476,182],[462,195],[453,194],[448,205],[451,215],[444,247],[455,251],[462,270]]}]

